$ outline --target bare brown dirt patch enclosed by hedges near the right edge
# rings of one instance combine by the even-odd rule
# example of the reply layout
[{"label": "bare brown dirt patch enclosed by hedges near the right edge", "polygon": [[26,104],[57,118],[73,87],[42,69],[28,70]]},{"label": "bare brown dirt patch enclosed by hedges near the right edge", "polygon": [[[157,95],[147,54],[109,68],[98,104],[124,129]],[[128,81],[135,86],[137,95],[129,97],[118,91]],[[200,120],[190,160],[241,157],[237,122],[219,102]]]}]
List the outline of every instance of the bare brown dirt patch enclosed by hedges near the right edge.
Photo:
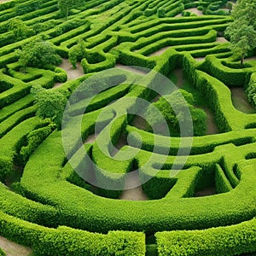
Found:
[{"label": "bare brown dirt patch enclosed by hedges near the right edge", "polygon": [[231,96],[234,107],[243,113],[255,113],[253,106],[247,101],[243,88],[231,88]]}]

